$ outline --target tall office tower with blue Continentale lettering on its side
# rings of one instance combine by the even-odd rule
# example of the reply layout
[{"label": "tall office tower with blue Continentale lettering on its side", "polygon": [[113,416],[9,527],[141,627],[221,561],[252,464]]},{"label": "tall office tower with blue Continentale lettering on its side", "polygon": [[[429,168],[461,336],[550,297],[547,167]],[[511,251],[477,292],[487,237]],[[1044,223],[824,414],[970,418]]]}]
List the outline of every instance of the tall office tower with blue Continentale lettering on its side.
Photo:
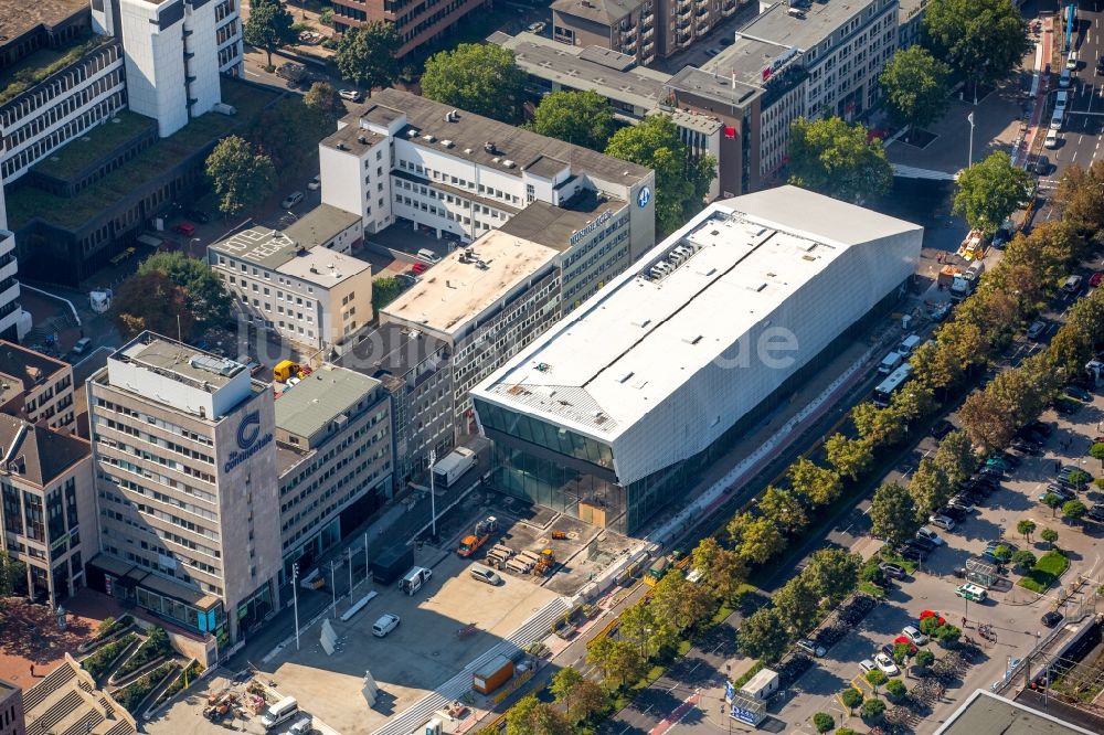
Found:
[{"label": "tall office tower with blue Continentale lettering on its side", "polygon": [[100,552],[88,585],[220,642],[278,609],[272,388],[145,332],[88,382]]}]

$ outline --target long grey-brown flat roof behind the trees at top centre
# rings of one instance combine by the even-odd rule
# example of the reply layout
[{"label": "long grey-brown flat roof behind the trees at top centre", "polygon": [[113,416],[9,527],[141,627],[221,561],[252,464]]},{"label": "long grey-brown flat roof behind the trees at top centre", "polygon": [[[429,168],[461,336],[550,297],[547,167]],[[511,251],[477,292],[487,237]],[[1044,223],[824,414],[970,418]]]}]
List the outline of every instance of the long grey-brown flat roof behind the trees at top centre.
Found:
[{"label": "long grey-brown flat roof behind the trees at top centre", "polygon": [[645,110],[658,109],[664,84],[671,78],[670,74],[636,66],[634,57],[616,51],[569,46],[535,33],[498,31],[487,40],[512,50],[518,66],[532,76],[572,89],[591,89]]}]

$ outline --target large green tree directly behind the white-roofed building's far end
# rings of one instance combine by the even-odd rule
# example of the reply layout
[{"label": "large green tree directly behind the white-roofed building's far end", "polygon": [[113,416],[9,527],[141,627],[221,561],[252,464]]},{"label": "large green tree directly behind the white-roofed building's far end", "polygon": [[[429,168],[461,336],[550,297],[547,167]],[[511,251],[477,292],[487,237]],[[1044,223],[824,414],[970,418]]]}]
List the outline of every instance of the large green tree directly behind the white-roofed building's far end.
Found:
[{"label": "large green tree directly behind the white-roofed building's far end", "polygon": [[858,204],[887,193],[893,170],[861,125],[799,117],[789,126],[789,183]]}]

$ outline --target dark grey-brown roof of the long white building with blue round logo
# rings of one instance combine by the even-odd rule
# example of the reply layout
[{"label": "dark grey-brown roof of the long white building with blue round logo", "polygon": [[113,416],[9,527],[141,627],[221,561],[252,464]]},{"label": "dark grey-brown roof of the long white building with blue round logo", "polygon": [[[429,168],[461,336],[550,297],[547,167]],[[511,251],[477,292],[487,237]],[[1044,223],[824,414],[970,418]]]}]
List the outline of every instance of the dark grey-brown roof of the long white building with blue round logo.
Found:
[{"label": "dark grey-brown roof of the long white building with blue round logo", "polygon": [[[380,107],[388,109],[381,110]],[[649,169],[643,166],[555,138],[545,138],[530,130],[473,113],[458,110],[455,121],[446,122],[445,114],[453,109],[455,108],[449,105],[442,105],[426,97],[389,88],[375,93],[371,104],[361,109],[359,115],[370,118],[382,113],[389,116],[394,113],[405,113],[407,127],[400,131],[399,137],[411,140],[417,146],[447,150],[449,156],[495,169],[507,175],[521,177],[522,171],[542,157],[569,161],[574,175],[594,175],[624,187],[636,184],[649,173]],[[418,136],[416,139],[411,139],[408,135],[411,128],[416,130]],[[339,131],[338,135],[342,132],[344,131]],[[423,140],[421,136],[425,135],[435,136],[437,141]],[[442,141],[445,140],[453,141],[453,147],[444,148]],[[496,146],[493,153],[484,149],[484,143],[488,141],[492,141]],[[471,152],[468,152],[469,150]],[[507,168],[503,163],[507,160],[513,161],[516,166]]]}]

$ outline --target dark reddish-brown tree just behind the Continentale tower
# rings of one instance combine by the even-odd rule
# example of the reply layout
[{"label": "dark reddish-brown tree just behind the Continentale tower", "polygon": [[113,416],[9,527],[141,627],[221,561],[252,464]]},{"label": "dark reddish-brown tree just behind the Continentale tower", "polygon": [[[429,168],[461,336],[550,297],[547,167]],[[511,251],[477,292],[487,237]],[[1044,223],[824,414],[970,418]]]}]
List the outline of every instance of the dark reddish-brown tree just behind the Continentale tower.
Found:
[{"label": "dark reddish-brown tree just behind the Continentale tower", "polygon": [[160,271],[135,274],[115,291],[112,318],[127,338],[146,330],[180,334],[185,342],[195,337],[195,315],[188,294]]}]

